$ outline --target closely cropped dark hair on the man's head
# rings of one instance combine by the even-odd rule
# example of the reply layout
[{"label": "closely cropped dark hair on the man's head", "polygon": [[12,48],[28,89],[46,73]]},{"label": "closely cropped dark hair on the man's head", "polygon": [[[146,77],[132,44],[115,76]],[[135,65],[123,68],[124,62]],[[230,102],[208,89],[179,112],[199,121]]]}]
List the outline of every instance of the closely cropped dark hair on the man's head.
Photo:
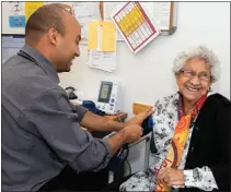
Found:
[{"label": "closely cropped dark hair on the man's head", "polygon": [[63,4],[51,3],[38,8],[28,19],[25,26],[25,37],[30,41],[39,40],[41,35],[54,27],[61,35],[65,35],[63,24],[65,12],[68,12]]}]

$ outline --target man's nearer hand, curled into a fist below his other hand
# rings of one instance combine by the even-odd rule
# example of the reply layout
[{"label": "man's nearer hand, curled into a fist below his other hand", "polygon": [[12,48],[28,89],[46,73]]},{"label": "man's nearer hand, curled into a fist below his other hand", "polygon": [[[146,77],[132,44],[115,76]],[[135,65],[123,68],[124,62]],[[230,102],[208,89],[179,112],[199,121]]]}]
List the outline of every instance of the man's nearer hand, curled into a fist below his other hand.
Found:
[{"label": "man's nearer hand, curled into a fist below his other hand", "polygon": [[138,141],[142,135],[142,128],[137,124],[130,124],[125,127],[122,132],[125,134],[124,143],[132,143]]}]

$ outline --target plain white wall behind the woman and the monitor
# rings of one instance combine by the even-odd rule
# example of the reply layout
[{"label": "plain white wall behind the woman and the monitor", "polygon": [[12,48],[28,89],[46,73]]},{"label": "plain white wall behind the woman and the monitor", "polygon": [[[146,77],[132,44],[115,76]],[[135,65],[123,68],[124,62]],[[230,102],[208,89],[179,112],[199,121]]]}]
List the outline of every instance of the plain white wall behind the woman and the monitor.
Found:
[{"label": "plain white wall behind the woman and the monitor", "polygon": [[72,85],[84,92],[86,98],[97,95],[101,80],[122,79],[124,111],[131,115],[132,103],[154,104],[176,92],[171,72],[177,52],[189,46],[206,45],[221,61],[221,79],[213,91],[230,98],[230,3],[178,2],[177,31],[172,36],[159,36],[145,50],[132,55],[124,41],[118,41],[117,69],[107,73],[90,69],[85,61],[86,46],[74,60],[70,73],[60,74],[60,85]]}]

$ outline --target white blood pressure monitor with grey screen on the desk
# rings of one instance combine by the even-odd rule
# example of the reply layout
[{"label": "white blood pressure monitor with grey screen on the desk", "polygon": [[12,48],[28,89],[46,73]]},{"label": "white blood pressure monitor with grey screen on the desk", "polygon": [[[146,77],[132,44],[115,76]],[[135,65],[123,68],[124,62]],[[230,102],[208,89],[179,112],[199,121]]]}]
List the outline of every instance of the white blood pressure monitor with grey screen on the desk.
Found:
[{"label": "white blood pressure monitor with grey screen on the desk", "polygon": [[120,96],[119,83],[102,81],[97,97],[96,107],[108,115],[115,115],[119,111]]}]

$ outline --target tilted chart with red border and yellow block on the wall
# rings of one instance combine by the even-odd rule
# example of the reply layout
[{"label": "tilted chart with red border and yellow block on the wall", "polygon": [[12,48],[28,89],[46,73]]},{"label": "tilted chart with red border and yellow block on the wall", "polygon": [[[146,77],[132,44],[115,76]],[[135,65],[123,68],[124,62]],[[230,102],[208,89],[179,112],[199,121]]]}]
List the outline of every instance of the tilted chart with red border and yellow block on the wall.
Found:
[{"label": "tilted chart with red border and yellow block on the wall", "polygon": [[126,2],[112,13],[112,20],[134,53],[140,51],[160,31],[139,2]]}]

